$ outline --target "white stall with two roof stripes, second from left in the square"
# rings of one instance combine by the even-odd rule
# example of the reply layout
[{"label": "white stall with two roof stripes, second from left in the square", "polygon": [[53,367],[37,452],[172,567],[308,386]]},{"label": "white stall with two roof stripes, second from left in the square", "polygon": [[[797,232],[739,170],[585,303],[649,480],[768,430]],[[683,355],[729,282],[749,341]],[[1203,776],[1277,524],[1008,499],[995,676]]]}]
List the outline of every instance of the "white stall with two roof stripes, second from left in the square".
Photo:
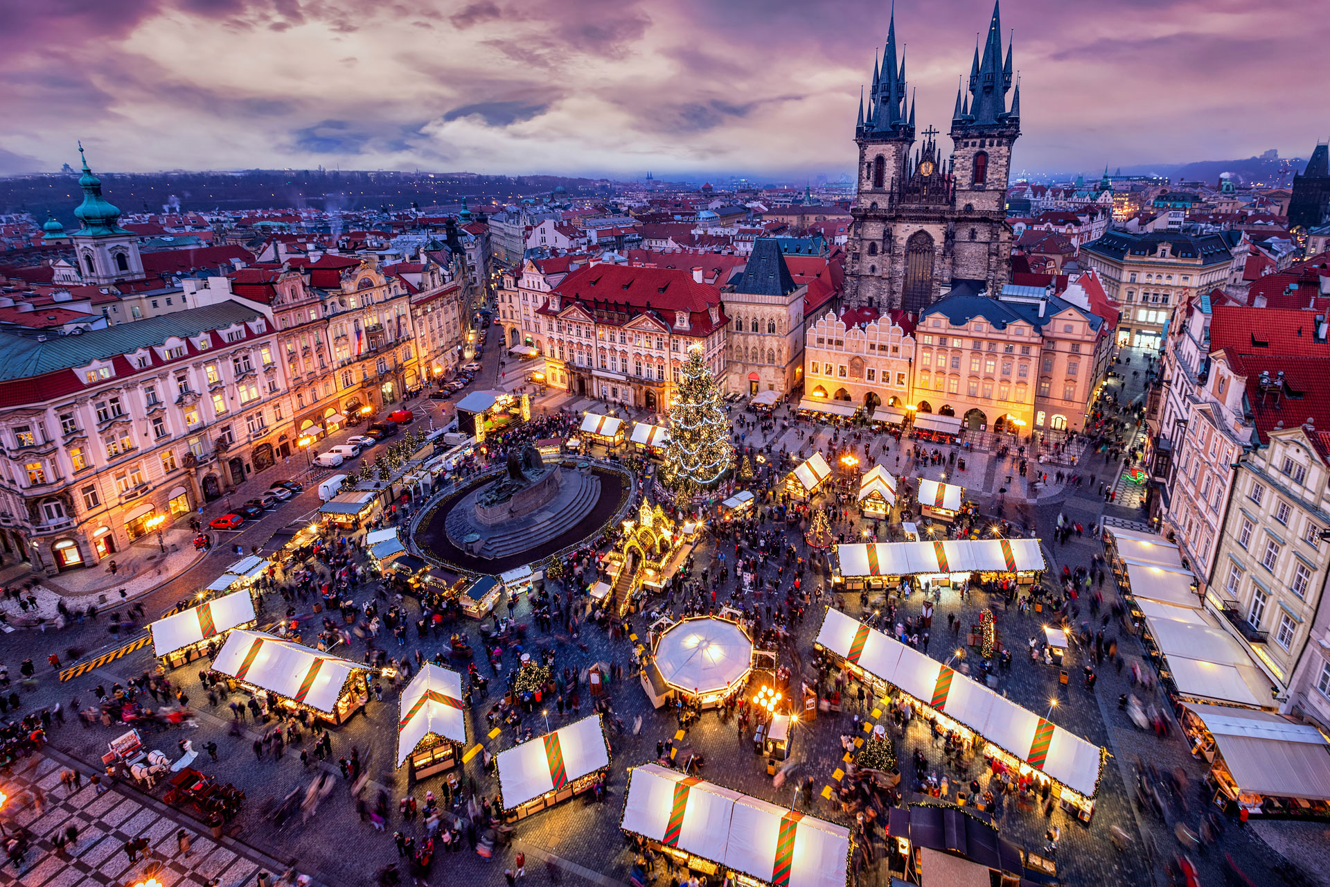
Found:
[{"label": "white stall with two roof stripes, second from left in the square", "polygon": [[266,632],[234,629],[213,660],[213,670],[250,693],[266,693],[286,709],[307,709],[346,722],[370,701],[368,669]]}]

